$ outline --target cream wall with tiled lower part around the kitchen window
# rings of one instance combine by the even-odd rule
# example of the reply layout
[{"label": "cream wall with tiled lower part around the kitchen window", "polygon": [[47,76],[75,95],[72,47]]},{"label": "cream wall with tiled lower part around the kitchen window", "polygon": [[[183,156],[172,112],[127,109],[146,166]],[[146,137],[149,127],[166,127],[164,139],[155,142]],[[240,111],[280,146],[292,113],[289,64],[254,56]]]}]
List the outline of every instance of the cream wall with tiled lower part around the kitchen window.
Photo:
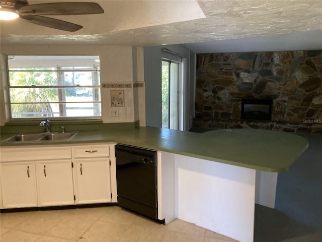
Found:
[{"label": "cream wall with tiled lower part around the kitchen window", "polygon": [[[101,63],[101,83],[131,83],[132,88],[125,88],[125,106],[117,107],[118,117],[110,116],[111,109],[111,89],[123,88],[102,88],[102,117],[104,123],[122,123],[134,122],[136,115],[134,113],[133,101],[133,76],[137,80],[143,81],[143,54],[142,48],[134,53],[139,53],[138,57],[133,56],[132,46],[107,46],[107,45],[1,45],[1,53],[9,55],[100,55]],[[133,66],[133,60],[136,63]],[[2,63],[3,64],[3,63]],[[3,65],[2,65],[3,66]],[[134,70],[138,67],[139,70]],[[3,76],[3,75],[2,75]],[[4,83],[3,78],[1,79]],[[143,89],[143,88],[141,88]],[[2,92],[3,93],[3,92]],[[144,91],[143,91],[144,94]],[[138,91],[137,99],[142,99],[142,90]],[[144,95],[143,95],[144,96]],[[142,100],[141,100],[142,103]],[[4,110],[4,102],[1,102],[1,109]],[[142,111],[143,110],[143,111]],[[145,108],[142,106],[138,109],[144,113]],[[6,118],[1,115],[1,125],[4,125]],[[138,117],[139,115],[136,115]],[[142,116],[142,115],[141,115]],[[144,118],[144,115],[143,117]],[[142,122],[145,123],[145,120]]]}]

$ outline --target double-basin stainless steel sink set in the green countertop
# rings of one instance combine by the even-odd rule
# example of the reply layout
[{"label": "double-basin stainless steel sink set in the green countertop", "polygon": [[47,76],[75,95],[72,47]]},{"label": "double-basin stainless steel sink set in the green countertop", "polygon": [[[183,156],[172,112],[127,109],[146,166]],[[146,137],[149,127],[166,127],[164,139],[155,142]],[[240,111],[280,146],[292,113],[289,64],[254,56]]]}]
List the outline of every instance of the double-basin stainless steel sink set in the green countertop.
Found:
[{"label": "double-basin stainless steel sink set in the green countertop", "polygon": [[64,132],[64,133],[26,133],[12,136],[3,142],[36,142],[36,141],[66,141],[71,140],[78,132]]}]

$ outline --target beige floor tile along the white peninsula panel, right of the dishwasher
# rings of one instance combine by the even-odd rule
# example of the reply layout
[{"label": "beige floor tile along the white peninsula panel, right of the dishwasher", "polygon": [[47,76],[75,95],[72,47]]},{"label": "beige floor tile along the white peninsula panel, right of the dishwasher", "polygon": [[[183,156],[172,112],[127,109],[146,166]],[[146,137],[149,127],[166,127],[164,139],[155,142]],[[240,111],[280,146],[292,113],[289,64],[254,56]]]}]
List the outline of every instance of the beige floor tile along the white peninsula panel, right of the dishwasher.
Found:
[{"label": "beige floor tile along the white peninsula panel, right of the dishwasher", "polygon": [[204,237],[206,232],[205,228],[202,228],[200,226],[197,226],[196,224],[189,223],[180,219],[175,219],[171,223],[169,223],[167,225],[167,230],[173,231],[173,232],[198,235],[200,237]]}]

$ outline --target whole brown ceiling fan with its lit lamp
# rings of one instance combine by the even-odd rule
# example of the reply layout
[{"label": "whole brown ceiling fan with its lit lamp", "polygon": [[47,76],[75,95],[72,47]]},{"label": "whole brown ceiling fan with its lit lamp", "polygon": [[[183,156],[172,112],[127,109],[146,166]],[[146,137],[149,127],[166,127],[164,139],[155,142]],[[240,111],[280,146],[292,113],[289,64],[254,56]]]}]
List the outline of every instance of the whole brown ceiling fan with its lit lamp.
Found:
[{"label": "whole brown ceiling fan with its lit lamp", "polygon": [[104,10],[97,3],[68,2],[68,3],[45,3],[29,5],[26,0],[5,0],[0,1],[0,19],[4,19],[3,14],[7,13],[15,18],[20,17],[33,24],[46,26],[49,28],[65,30],[69,32],[77,31],[83,26],[44,17],[42,15],[85,15],[85,14],[103,14]]}]

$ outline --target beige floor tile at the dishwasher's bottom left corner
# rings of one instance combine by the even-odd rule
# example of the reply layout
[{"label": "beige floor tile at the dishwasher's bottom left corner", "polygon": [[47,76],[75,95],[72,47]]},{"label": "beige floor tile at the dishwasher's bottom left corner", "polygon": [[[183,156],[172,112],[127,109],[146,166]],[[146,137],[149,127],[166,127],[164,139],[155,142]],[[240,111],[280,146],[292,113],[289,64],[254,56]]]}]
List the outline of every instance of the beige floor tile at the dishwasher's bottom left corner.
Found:
[{"label": "beige floor tile at the dishwasher's bottom left corner", "polygon": [[135,217],[134,213],[128,212],[120,207],[111,207],[109,208],[99,220],[112,222],[112,223],[122,223],[122,224],[132,224]]}]

